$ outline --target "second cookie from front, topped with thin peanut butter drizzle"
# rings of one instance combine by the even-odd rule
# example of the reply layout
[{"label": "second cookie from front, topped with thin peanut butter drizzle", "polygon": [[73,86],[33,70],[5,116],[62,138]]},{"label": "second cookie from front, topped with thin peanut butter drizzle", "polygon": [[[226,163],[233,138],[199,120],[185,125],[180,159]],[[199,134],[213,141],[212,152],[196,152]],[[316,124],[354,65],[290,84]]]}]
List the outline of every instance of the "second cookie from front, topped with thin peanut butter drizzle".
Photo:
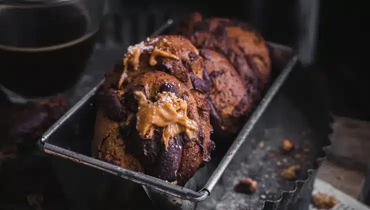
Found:
[{"label": "second cookie from front, topped with thin peanut butter drizzle", "polygon": [[188,88],[193,88],[189,73],[202,79],[203,65],[198,50],[185,37],[157,36],[127,48],[121,75],[114,81],[117,81],[119,88],[124,88],[136,76],[159,70],[173,75]]}]

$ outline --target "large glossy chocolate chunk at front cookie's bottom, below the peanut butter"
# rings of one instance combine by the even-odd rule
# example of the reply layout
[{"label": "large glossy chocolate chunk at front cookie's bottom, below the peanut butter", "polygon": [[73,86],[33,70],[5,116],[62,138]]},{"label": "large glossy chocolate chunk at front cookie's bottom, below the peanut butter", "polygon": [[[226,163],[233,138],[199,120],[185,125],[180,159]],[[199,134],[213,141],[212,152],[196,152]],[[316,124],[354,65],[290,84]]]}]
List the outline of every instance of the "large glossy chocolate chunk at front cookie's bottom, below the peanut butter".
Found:
[{"label": "large glossy chocolate chunk at front cookie's bottom, below the peanut butter", "polygon": [[162,150],[156,161],[153,176],[162,180],[176,180],[177,170],[181,163],[183,139],[176,135],[168,142],[167,150]]}]

